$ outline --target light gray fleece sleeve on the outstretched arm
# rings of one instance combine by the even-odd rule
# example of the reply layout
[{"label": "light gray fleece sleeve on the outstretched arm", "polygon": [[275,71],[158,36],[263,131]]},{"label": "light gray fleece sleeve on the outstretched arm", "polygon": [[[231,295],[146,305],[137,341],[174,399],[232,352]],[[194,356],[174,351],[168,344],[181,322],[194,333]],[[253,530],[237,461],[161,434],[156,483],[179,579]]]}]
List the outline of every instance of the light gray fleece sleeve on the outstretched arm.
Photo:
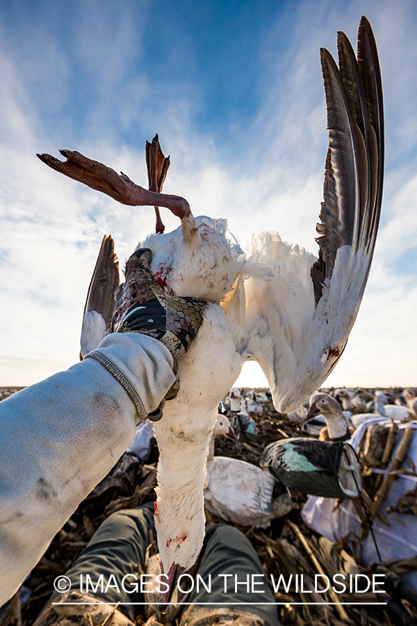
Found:
[{"label": "light gray fleece sleeve on the outstretched arm", "polygon": [[175,380],[152,337],[108,335],[96,352],[113,371],[88,358],[0,403],[0,606]]}]

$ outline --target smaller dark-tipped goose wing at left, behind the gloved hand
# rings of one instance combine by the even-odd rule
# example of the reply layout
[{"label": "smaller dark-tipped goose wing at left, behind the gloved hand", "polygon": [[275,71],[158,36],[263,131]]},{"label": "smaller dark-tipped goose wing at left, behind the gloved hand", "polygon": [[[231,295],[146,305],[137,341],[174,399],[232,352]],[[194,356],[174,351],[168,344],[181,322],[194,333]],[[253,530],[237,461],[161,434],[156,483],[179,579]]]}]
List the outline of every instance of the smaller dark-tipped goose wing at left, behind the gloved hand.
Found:
[{"label": "smaller dark-tipped goose wing at left, behind the gloved hand", "polygon": [[115,291],[119,284],[119,262],[115,255],[115,242],[111,236],[104,235],[85,301],[81,329],[81,359],[88,352],[95,350],[101,339],[111,332]]}]

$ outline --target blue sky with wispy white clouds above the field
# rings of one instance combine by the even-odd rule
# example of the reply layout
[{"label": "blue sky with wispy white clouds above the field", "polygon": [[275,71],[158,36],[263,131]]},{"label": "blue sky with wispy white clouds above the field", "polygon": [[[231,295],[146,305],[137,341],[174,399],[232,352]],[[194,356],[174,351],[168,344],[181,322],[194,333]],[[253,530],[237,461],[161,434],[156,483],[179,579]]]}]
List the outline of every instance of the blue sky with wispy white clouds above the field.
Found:
[{"label": "blue sky with wispy white clouds above the field", "polygon": [[[373,269],[333,385],[417,385],[417,5],[414,1],[8,1],[0,4],[0,386],[76,362],[103,234],[123,261],[153,209],[116,204],[36,152],[79,150],[227,217],[240,243],[277,230],[316,252],[327,131],[319,49],[373,24],[386,183]],[[177,220],[164,211],[167,228]],[[245,384],[263,384],[251,370]]]}]

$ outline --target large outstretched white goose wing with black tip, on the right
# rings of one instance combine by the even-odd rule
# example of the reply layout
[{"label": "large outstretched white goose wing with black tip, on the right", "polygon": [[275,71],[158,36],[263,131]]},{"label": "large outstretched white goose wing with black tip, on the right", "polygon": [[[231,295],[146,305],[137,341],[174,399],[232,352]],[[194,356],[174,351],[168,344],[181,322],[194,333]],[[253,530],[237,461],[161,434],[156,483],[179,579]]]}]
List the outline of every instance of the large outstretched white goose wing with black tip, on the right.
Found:
[{"label": "large outstretched white goose wing with black tip, on the right", "polygon": [[[358,53],[338,33],[337,67],[321,50],[329,149],[317,225],[318,258],[276,233],[254,245],[272,271],[267,288],[245,282],[245,358],[257,360],[277,410],[288,412],[320,387],[356,319],[375,247],[382,200],[384,116],[377,47],[362,17]],[[242,300],[242,289],[236,289]],[[234,307],[229,307],[233,314]],[[236,314],[236,312],[235,312]]]}]

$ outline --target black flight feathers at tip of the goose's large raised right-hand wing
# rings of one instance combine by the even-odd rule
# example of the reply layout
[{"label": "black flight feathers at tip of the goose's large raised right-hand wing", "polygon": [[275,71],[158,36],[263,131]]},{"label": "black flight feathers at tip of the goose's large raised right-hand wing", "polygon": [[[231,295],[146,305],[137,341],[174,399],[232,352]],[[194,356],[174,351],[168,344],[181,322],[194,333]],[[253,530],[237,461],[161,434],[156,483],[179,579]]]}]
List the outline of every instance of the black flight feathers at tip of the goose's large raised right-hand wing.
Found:
[{"label": "black flight feathers at tip of the goose's large raised right-hand wing", "polygon": [[368,19],[362,17],[359,24],[357,58],[345,33],[339,31],[339,67],[325,48],[320,49],[320,59],[329,150],[316,239],[319,259],[311,267],[316,305],[326,278],[332,276],[338,248],[349,245],[356,252],[366,246],[372,258],[384,161],[382,80]]}]

